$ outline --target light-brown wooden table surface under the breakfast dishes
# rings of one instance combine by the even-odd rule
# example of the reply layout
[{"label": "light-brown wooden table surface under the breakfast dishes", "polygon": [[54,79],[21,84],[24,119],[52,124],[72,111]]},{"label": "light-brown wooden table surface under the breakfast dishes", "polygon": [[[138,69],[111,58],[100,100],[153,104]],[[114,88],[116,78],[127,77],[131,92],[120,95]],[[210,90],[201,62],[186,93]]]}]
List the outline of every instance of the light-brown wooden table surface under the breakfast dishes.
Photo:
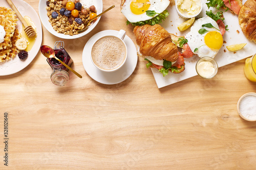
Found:
[{"label": "light-brown wooden table surface under the breakfast dishes", "polygon": [[[39,0],[25,0],[38,13]],[[99,31],[124,29],[120,1],[103,0],[96,28],[76,40],[62,40],[74,60],[63,87],[39,52],[22,71],[0,77],[0,169],[255,169],[256,123],[237,113],[244,93],[256,84],[244,76],[245,60],[219,68],[215,78],[199,76],[158,89],[143,59],[132,76],[116,85],[94,81],[83,68],[82,50]],[[8,113],[8,166],[4,165],[4,114]]]}]

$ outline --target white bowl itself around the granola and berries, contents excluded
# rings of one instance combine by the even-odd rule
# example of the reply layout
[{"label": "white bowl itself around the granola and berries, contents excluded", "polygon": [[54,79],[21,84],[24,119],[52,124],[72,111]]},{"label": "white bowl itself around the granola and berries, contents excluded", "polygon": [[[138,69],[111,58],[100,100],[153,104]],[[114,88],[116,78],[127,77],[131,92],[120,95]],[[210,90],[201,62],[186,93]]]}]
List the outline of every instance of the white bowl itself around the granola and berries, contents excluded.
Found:
[{"label": "white bowl itself around the granola and berries, contents excluded", "polygon": [[[95,0],[93,1],[94,6],[97,10],[97,14],[100,14],[102,12],[103,9],[103,4],[102,4],[102,0]],[[49,17],[47,16],[47,10],[46,10],[46,0],[40,0],[39,1],[39,6],[38,6],[38,10],[39,10],[39,16],[42,22],[42,25],[45,26],[45,28],[53,35],[55,35],[56,37],[59,38],[63,38],[63,39],[76,39],[76,38],[80,38],[86,34],[88,34],[90,31],[92,31],[94,29],[94,27],[96,27],[97,23],[99,22],[101,16],[96,19],[96,21],[93,21],[93,24],[86,30],[83,31],[77,35],[64,35],[62,33],[57,33],[55,30],[53,30],[50,22],[49,22]]]}]

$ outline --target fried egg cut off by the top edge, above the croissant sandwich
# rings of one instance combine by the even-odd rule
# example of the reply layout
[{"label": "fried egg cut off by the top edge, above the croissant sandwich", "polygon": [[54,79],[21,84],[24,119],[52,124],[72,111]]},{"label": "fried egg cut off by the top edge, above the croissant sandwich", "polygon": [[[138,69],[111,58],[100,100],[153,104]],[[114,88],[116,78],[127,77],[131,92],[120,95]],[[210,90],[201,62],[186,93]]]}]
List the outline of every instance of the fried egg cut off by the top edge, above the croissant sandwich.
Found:
[{"label": "fried egg cut off by the top edge, above the croissant sandwich", "polygon": [[147,16],[147,10],[162,13],[169,4],[169,0],[125,0],[121,4],[121,12],[130,22],[139,22],[152,19],[158,15]]}]

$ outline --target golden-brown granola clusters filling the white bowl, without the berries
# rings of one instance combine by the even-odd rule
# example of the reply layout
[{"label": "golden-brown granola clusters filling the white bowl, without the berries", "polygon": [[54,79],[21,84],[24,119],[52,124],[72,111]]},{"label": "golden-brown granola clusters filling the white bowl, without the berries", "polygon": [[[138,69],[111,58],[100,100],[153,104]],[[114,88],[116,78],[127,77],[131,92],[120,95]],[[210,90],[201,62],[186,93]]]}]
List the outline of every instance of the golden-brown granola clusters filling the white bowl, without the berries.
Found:
[{"label": "golden-brown granola clusters filling the white bowl, without the berries", "polygon": [[[73,17],[72,15],[70,17],[67,17],[65,15],[61,15],[59,13],[61,8],[66,8],[65,1],[61,0],[48,0],[46,2],[47,7],[47,16],[49,17],[49,22],[51,23],[53,29],[57,33],[63,33],[65,35],[77,35],[78,30],[82,30],[87,26],[88,21],[90,20],[90,13],[92,11],[87,8],[87,14],[82,14],[81,11],[79,11],[79,14],[77,17]],[[84,9],[83,7],[81,10]],[[57,12],[58,16],[56,18],[52,17],[52,12]],[[75,21],[75,18],[80,18],[82,20],[82,23],[79,24]],[[91,24],[91,23],[90,23]]]}]

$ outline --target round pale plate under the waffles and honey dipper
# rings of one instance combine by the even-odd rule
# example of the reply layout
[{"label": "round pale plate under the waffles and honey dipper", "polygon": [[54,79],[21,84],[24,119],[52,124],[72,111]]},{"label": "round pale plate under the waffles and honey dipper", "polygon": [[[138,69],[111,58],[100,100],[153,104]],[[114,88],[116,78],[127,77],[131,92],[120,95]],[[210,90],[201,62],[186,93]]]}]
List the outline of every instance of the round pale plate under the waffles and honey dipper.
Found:
[{"label": "round pale plate under the waffles and honey dipper", "polygon": [[[17,55],[11,60],[0,63],[0,76],[11,75],[27,67],[37,55],[42,43],[42,26],[36,11],[28,3],[22,0],[13,0],[12,2],[18,9],[19,13],[22,14],[22,16],[29,16],[31,20],[35,23],[37,37],[35,40],[35,44],[33,45],[31,51],[29,52],[29,56],[26,60],[20,60]],[[6,1],[1,1],[0,6],[11,8]],[[16,27],[21,33],[22,22],[17,21]]]}]

